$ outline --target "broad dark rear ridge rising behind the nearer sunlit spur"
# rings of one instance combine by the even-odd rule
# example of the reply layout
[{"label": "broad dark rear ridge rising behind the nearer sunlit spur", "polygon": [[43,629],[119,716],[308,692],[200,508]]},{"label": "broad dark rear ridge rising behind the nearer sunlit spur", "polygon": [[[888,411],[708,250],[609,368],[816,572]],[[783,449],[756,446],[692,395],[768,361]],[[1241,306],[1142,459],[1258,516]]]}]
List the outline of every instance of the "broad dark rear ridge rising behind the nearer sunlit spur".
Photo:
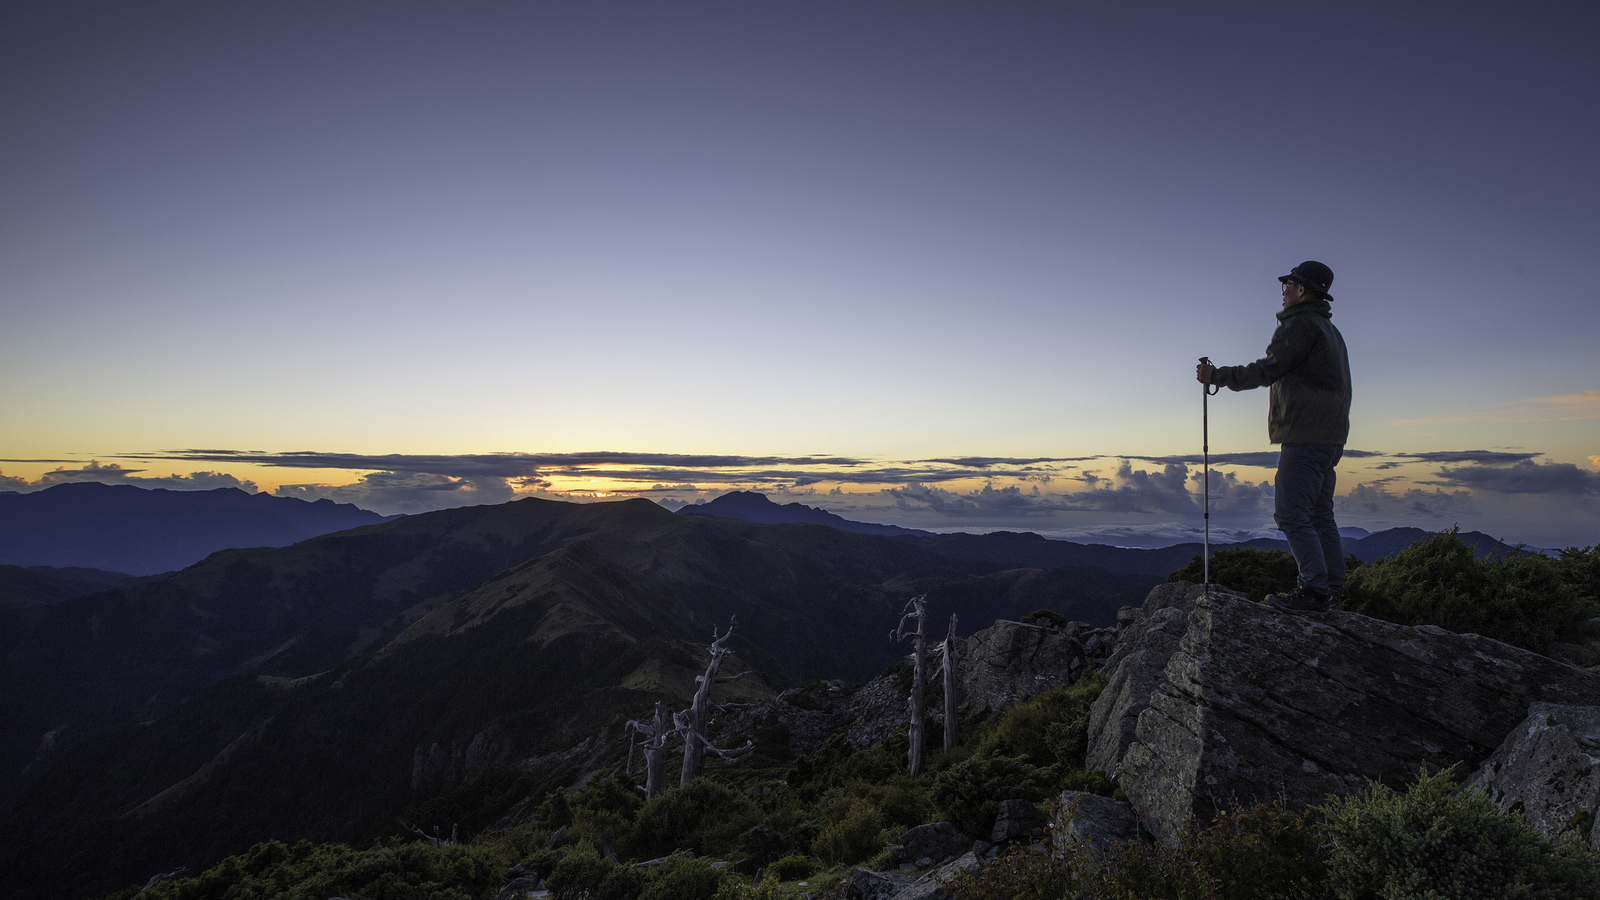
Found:
[{"label": "broad dark rear ridge rising behind the nearer sunlit spur", "polygon": [[774,682],[866,679],[912,593],[987,623],[1053,609],[1107,625],[1157,578],[1018,578],[1011,564],[938,556],[818,525],[674,516],[645,500],[520,500],[445,509],[290,548],[229,549],[141,585],[0,609],[0,785],[40,748],[158,717],[235,674],[304,677],[384,645],[502,572],[587,544],[640,602],[709,634],[731,615]]}]

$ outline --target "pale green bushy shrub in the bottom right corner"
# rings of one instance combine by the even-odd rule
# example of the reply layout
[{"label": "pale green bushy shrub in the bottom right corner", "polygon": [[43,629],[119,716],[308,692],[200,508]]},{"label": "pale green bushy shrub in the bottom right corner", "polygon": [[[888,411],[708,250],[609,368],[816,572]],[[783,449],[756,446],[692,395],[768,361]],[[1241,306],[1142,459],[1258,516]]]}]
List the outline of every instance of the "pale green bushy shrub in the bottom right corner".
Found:
[{"label": "pale green bushy shrub in the bottom right corner", "polygon": [[1339,900],[1600,898],[1600,857],[1576,839],[1541,838],[1450,772],[1424,770],[1403,794],[1373,785],[1328,801],[1323,814]]}]

